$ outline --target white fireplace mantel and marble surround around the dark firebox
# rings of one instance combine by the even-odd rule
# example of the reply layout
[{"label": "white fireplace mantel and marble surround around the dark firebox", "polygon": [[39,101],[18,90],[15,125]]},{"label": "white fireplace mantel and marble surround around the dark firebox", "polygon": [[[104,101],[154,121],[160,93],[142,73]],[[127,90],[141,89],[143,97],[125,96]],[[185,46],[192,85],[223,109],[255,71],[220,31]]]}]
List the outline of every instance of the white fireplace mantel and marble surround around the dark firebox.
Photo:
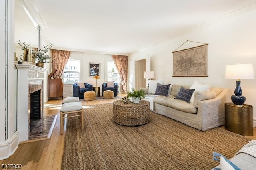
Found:
[{"label": "white fireplace mantel and marble surround around the dark firebox", "polygon": [[17,68],[17,127],[20,142],[29,140],[30,94],[40,90],[40,118],[44,116],[44,81],[48,71],[34,64],[16,64]]}]

